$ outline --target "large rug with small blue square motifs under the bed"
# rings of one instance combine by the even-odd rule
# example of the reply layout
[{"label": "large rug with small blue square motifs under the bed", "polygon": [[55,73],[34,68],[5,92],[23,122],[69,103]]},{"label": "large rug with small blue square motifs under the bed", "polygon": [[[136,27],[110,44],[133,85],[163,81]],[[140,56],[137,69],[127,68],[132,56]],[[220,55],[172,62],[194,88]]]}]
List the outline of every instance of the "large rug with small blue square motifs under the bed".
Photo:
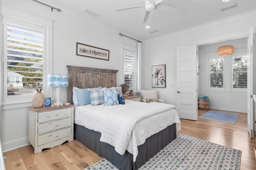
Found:
[{"label": "large rug with small blue square motifs under the bed", "polygon": [[[178,133],[139,170],[239,170],[242,151]],[[85,170],[118,170],[108,160]]]}]

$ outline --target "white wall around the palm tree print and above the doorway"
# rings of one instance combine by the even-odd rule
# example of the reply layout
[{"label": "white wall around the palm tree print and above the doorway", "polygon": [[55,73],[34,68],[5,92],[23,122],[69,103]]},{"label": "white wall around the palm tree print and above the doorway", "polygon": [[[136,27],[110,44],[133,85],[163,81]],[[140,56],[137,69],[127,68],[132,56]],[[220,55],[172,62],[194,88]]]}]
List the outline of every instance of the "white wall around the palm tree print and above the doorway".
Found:
[{"label": "white wall around the palm tree print and above the doorway", "polygon": [[[158,98],[176,105],[176,48],[245,37],[252,26],[256,26],[255,11],[146,41],[142,89],[156,89],[151,86],[151,66],[166,64],[166,88],[157,88]],[[171,83],[174,83],[174,87],[171,87]]]}]

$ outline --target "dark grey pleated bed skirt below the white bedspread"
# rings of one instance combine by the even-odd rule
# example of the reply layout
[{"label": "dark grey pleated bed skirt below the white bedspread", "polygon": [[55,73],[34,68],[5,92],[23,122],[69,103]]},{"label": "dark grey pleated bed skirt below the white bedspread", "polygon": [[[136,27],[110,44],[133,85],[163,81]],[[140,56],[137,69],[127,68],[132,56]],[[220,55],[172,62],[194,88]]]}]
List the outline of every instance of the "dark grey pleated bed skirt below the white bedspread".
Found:
[{"label": "dark grey pleated bed skirt below the white bedspread", "polygon": [[74,124],[74,137],[76,140],[109,160],[116,168],[120,170],[136,170],[172,140],[176,139],[176,124],[174,123],[164,130],[153,134],[146,139],[144,144],[138,146],[136,162],[133,162],[133,155],[127,150],[121,155],[115,151],[114,146],[100,142],[100,136],[100,132]]}]

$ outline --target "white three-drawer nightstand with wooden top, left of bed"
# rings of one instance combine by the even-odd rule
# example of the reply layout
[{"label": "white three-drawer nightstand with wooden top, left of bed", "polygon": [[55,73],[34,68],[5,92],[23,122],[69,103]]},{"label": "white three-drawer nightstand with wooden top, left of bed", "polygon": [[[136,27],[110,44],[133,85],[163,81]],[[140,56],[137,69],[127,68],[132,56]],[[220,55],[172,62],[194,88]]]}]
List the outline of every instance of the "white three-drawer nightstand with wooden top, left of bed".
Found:
[{"label": "white three-drawer nightstand with wooden top, left of bed", "polygon": [[74,140],[74,105],[28,107],[28,142],[34,154]]}]

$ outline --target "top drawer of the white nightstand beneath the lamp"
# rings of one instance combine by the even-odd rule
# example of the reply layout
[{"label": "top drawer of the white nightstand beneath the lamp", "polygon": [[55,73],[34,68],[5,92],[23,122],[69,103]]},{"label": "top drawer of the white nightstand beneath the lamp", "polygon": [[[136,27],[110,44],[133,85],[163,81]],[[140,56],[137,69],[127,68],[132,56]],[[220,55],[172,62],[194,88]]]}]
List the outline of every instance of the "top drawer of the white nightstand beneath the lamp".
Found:
[{"label": "top drawer of the white nightstand beneath the lamp", "polygon": [[38,123],[72,116],[72,108],[56,109],[38,113]]}]

